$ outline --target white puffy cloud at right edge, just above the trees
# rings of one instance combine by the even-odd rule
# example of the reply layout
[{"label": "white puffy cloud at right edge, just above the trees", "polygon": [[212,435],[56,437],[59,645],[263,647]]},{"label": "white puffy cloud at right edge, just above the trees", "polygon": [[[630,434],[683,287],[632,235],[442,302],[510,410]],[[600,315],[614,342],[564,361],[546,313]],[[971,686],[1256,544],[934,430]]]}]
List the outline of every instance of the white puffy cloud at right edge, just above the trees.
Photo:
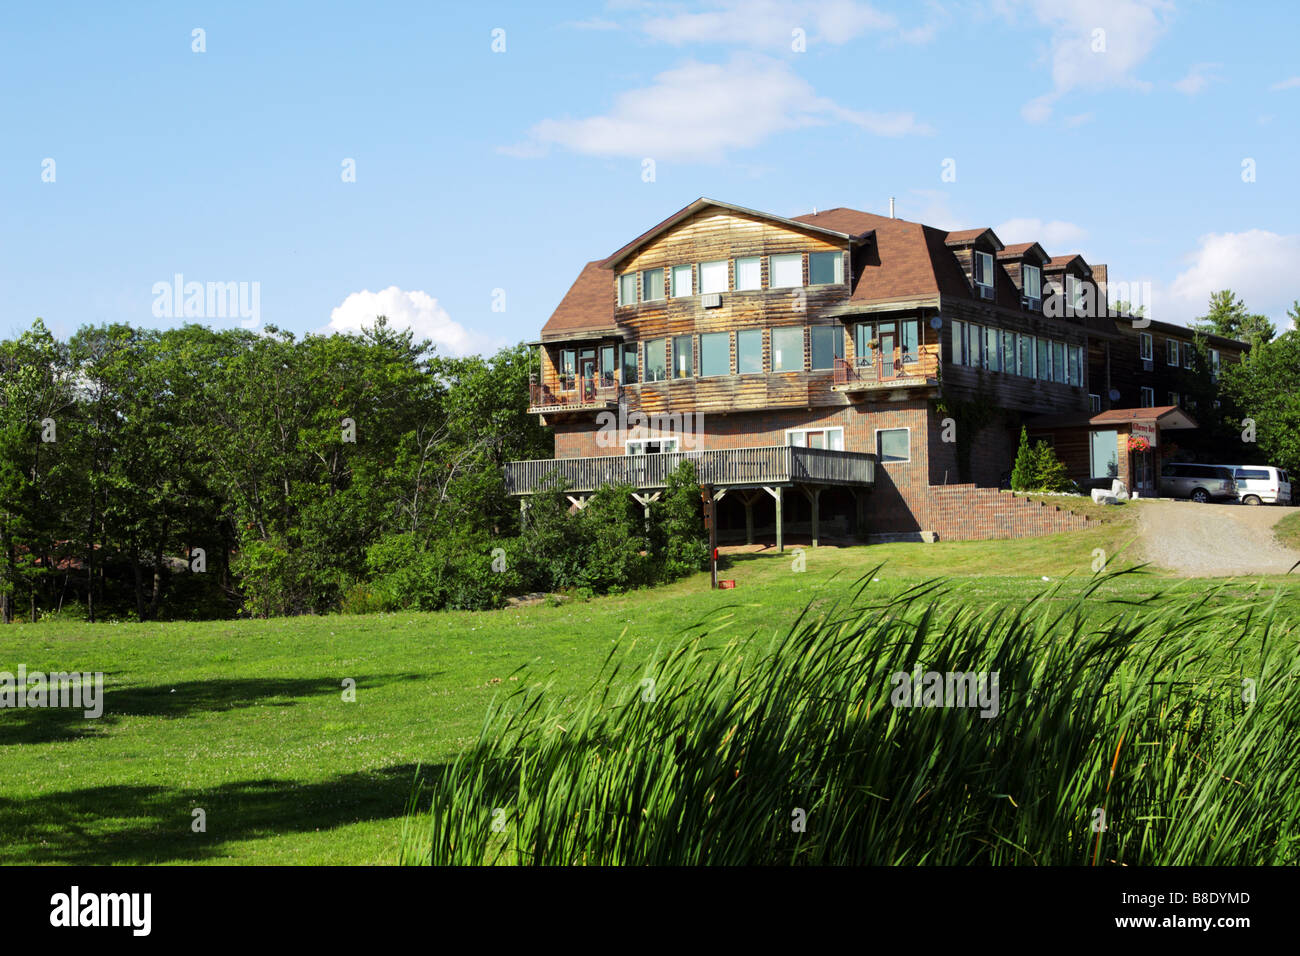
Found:
[{"label": "white puffy cloud at right edge, just above the trees", "polygon": [[1265,229],[1209,233],[1200,237],[1186,259],[1188,268],[1157,303],[1174,321],[1204,315],[1210,293],[1231,289],[1252,312],[1286,324],[1287,307],[1296,298],[1294,276],[1300,259],[1300,234],[1282,235]]}]

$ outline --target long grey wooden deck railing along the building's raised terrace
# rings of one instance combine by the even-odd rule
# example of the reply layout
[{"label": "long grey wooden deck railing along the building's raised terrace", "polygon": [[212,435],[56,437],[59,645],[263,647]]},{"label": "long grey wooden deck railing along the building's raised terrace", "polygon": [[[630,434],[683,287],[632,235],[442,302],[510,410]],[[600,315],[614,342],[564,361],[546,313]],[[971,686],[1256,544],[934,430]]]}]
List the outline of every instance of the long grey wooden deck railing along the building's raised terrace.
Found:
[{"label": "long grey wooden deck railing along the building's raised terrace", "polygon": [[603,485],[632,485],[638,490],[664,488],[682,462],[693,462],[702,485],[759,488],[763,485],[872,485],[876,457],[866,451],[832,451],[767,445],[751,449],[670,451],[658,455],[555,458],[506,464],[506,492],[533,494],[547,476],[563,479],[566,490],[590,493]]}]

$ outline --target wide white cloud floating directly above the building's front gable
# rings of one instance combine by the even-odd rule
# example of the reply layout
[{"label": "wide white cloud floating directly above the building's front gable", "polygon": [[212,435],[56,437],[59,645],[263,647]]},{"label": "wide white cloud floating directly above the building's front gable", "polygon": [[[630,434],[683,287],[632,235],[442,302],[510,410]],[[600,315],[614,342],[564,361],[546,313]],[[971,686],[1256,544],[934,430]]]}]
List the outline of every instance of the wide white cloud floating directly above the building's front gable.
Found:
[{"label": "wide white cloud floating directly above the building's front gable", "polygon": [[818,96],[780,60],[736,53],[725,65],[688,61],[666,70],[619,94],[602,116],[542,120],[524,143],[500,151],[528,157],[560,146],[592,156],[718,163],[777,133],[833,122],[879,137],[932,133],[911,113],[849,109]]}]

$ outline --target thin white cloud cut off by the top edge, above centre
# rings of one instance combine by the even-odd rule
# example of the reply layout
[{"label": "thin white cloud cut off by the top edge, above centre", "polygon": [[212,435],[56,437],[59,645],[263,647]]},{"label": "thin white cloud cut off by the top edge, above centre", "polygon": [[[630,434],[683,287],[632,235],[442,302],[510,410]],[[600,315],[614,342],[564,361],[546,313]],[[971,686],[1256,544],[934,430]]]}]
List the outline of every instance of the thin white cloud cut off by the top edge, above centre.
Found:
[{"label": "thin white cloud cut off by the top edge, above centre", "polygon": [[841,46],[868,33],[893,34],[926,43],[932,26],[900,29],[898,21],[871,4],[854,0],[720,0],[698,13],[673,12],[641,22],[653,39],[673,46],[725,43],[751,48],[790,49],[794,31],[809,43]]}]

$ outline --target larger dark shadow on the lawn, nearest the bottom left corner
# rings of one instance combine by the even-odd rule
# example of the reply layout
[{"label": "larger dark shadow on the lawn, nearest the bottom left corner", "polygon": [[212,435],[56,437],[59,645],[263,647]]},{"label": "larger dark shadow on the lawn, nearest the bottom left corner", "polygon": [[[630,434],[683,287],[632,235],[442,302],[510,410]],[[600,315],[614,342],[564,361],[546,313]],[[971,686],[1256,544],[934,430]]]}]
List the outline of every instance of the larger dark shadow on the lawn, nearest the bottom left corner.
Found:
[{"label": "larger dark shadow on the lawn, nearest the bottom left corner", "polygon": [[[415,773],[415,763],[404,763],[308,784],[278,779],[205,790],[120,784],[30,799],[0,797],[0,832],[5,834],[0,861],[95,865],[211,860],[221,857],[230,842],[402,817]],[[195,808],[207,814],[205,832],[191,830]]]}]

